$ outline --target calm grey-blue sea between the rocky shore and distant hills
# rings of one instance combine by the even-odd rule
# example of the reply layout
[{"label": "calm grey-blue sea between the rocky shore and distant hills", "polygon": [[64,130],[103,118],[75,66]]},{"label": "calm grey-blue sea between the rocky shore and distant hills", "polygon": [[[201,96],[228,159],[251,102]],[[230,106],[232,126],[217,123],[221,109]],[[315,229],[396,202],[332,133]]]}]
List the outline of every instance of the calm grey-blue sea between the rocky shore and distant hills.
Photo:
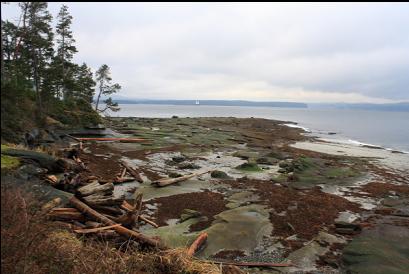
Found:
[{"label": "calm grey-blue sea between the rocky shore and distant hills", "polygon": [[[409,152],[409,112],[121,104],[113,117],[256,117],[288,122],[322,139]],[[335,134],[329,134],[335,133]]]}]

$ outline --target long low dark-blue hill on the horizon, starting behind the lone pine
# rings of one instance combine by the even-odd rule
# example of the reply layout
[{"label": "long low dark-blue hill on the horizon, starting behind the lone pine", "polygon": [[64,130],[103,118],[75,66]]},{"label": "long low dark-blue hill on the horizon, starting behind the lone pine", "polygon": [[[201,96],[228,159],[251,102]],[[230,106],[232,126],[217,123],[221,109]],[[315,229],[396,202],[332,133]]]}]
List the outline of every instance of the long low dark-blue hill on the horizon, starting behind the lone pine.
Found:
[{"label": "long low dark-blue hill on the horizon, starting behind the lone pine", "polygon": [[[196,100],[132,100],[116,99],[119,104],[154,104],[154,105],[196,105]],[[199,100],[200,105],[205,106],[247,106],[247,107],[284,107],[284,108],[307,108],[304,103],[292,102],[254,102],[243,100]]]}]

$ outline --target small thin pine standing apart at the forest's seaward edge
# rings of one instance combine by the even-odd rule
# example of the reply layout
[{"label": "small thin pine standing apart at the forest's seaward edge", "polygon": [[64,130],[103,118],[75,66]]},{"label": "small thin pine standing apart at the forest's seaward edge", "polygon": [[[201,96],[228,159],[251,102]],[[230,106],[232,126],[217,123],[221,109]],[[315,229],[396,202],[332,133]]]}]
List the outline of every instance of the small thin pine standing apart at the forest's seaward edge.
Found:
[{"label": "small thin pine standing apart at the forest's seaward edge", "polygon": [[98,97],[95,103],[95,110],[99,112],[105,112],[106,110],[111,111],[119,111],[118,103],[112,101],[111,97],[108,97],[103,102],[105,103],[105,108],[99,109],[99,101],[101,99],[101,95],[111,95],[117,93],[121,86],[119,84],[111,84],[111,72],[109,71],[109,67],[107,65],[102,65],[97,72],[95,73],[96,79],[98,82]]}]

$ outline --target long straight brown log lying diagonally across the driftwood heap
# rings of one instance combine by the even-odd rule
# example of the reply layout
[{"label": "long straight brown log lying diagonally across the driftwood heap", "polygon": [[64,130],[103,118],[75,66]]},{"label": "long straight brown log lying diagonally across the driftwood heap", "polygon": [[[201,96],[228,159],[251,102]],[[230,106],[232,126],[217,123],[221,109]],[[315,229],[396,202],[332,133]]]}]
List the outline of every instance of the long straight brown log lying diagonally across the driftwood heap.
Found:
[{"label": "long straight brown log lying diagonally across the driftwood heap", "polygon": [[[90,216],[96,221],[102,222],[106,225],[115,225],[116,223],[107,217],[99,214],[80,200],[78,200],[76,197],[71,197],[70,203],[75,206],[79,211],[82,213]],[[123,226],[117,226],[113,228],[118,234],[121,234],[126,237],[130,237],[135,239],[136,241],[139,241],[143,244],[147,244],[149,246],[157,247],[160,249],[164,249],[165,247],[162,245],[162,243],[156,239],[152,239],[146,235],[143,235],[142,233],[127,229]]]}]

